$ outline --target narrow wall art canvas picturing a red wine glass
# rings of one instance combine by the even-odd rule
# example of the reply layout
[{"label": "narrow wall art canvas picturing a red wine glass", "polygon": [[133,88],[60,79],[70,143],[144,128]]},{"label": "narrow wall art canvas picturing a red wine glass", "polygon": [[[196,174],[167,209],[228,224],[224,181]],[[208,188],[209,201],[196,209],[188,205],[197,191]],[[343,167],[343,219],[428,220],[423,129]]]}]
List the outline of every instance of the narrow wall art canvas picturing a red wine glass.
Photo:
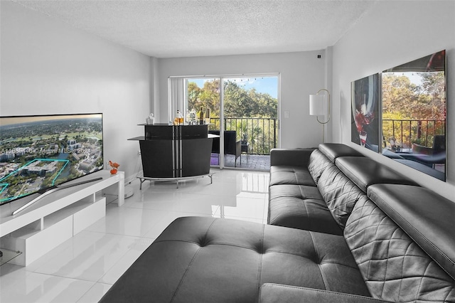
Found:
[{"label": "narrow wall art canvas picturing a red wine glass", "polygon": [[378,152],[379,140],[379,74],[351,83],[351,141]]}]

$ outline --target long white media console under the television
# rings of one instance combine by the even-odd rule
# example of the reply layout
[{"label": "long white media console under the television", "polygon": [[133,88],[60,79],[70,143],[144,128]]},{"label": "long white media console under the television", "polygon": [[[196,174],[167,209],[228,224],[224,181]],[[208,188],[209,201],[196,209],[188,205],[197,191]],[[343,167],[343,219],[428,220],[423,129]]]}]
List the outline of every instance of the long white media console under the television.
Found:
[{"label": "long white media console under the television", "polygon": [[[28,206],[20,213],[13,211],[28,201],[9,203],[0,208],[0,250],[18,252],[9,262],[29,265],[65,240],[106,215],[106,201],[117,196],[118,206],[124,203],[124,173],[111,175],[97,171],[73,181],[102,179],[63,188]],[[71,182],[68,182],[71,184]],[[22,200],[25,200],[23,198]],[[18,205],[19,204],[19,205]],[[20,254],[19,254],[20,253]],[[6,255],[4,254],[4,257]]]}]

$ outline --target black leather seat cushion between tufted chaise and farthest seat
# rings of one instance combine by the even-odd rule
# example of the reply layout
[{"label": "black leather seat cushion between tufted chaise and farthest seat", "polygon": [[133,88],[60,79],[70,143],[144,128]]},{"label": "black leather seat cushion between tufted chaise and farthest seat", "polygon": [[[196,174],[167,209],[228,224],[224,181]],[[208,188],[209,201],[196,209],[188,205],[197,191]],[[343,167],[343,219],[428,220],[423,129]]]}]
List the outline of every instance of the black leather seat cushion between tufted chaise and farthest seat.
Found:
[{"label": "black leather seat cushion between tufted chaise and farthest seat", "polygon": [[270,186],[267,223],[343,235],[315,186]]}]

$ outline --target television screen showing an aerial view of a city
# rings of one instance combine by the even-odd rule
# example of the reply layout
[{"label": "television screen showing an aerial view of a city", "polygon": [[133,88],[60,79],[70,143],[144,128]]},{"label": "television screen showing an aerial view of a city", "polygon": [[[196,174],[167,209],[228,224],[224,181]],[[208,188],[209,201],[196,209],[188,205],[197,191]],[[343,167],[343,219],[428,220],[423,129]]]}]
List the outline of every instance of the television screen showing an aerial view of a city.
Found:
[{"label": "television screen showing an aerial view of a city", "polygon": [[0,205],[103,169],[102,114],[0,117]]}]

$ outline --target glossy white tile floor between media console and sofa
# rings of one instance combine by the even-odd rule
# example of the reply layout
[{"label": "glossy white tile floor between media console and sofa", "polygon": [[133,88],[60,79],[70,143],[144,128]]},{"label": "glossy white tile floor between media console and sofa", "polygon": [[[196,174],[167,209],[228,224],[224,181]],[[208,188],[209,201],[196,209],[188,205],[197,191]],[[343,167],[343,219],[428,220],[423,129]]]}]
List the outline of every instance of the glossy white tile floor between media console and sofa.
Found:
[{"label": "glossy white tile floor between media console and sofa", "polygon": [[214,169],[209,178],[128,184],[122,207],[27,267],[0,267],[0,302],[97,302],[134,260],[181,216],[267,223],[268,172]]}]

